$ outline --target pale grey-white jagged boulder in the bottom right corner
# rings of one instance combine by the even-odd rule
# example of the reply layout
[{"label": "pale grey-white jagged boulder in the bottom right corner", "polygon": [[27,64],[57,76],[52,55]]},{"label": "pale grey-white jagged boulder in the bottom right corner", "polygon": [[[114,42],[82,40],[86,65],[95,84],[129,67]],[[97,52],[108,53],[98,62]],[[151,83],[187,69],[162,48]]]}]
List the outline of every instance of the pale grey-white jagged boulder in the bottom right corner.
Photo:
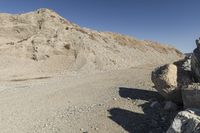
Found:
[{"label": "pale grey-white jagged boulder in the bottom right corner", "polygon": [[167,133],[200,133],[200,110],[187,109],[178,113]]}]

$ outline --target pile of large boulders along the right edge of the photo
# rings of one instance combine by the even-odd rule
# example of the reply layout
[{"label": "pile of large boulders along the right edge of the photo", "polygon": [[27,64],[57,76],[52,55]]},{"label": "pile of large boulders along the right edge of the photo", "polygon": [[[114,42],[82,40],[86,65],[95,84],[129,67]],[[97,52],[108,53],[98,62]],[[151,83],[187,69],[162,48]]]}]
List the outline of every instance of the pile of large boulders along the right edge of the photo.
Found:
[{"label": "pile of large boulders along the right edge of the photo", "polygon": [[200,39],[196,44],[192,55],[152,72],[155,89],[186,109],[178,113],[167,133],[200,133]]}]

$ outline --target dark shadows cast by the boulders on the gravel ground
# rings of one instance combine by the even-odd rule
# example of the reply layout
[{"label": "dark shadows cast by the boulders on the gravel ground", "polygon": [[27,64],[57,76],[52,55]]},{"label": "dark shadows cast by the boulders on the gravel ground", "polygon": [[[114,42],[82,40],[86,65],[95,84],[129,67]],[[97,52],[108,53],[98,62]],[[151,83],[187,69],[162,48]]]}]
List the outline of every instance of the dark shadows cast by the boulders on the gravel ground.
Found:
[{"label": "dark shadows cast by the boulders on the gravel ground", "polygon": [[163,133],[170,126],[177,112],[168,112],[162,108],[151,108],[152,99],[162,103],[164,100],[157,92],[136,88],[119,88],[119,95],[132,100],[144,100],[139,105],[144,113],[136,113],[122,108],[109,110],[110,119],[130,133]]}]

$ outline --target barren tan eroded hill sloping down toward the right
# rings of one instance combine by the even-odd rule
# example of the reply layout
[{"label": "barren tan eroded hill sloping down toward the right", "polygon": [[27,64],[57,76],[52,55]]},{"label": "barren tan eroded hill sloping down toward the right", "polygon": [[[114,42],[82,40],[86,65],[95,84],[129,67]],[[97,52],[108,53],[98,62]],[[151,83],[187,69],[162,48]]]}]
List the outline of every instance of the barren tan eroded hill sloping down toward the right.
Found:
[{"label": "barren tan eroded hill sloping down toward the right", "polygon": [[20,64],[21,73],[30,69],[88,73],[161,64],[182,57],[175,48],[156,42],[81,28],[49,9],[1,13],[0,25],[0,64],[6,66],[1,66],[5,72]]}]

